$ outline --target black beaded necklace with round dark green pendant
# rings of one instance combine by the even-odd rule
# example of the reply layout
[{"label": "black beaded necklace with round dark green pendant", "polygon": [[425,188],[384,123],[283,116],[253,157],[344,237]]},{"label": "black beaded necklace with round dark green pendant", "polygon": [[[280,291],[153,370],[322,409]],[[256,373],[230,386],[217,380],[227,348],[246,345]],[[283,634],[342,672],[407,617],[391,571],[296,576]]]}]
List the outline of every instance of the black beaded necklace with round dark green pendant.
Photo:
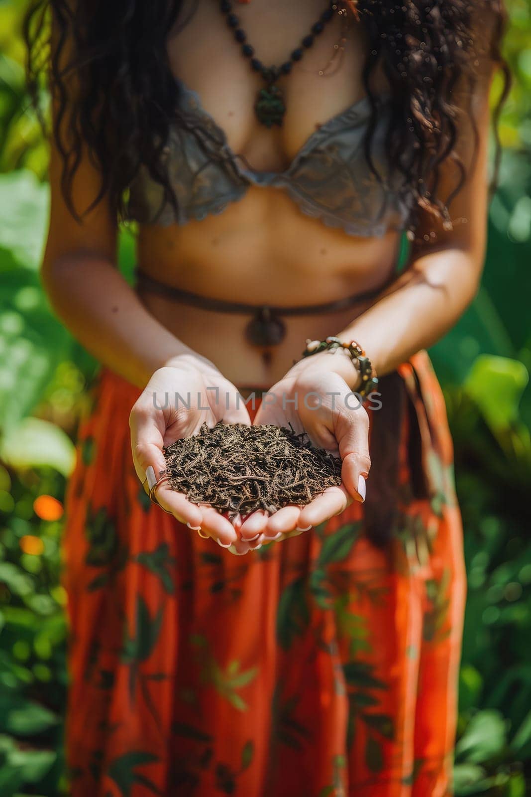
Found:
[{"label": "black beaded necklace with round dark green pendant", "polygon": [[317,22],[311,26],[310,33],[308,33],[301,41],[302,47],[296,47],[287,61],[284,61],[280,66],[264,66],[262,61],[255,58],[254,48],[247,43],[247,33],[243,28],[240,28],[240,20],[236,14],[232,14],[232,2],[230,0],[221,0],[220,8],[227,18],[227,24],[234,30],[234,38],[241,45],[241,52],[244,57],[249,58],[251,61],[251,68],[255,72],[259,72],[261,77],[265,80],[266,88],[260,88],[255,103],[255,113],[261,124],[266,128],[271,128],[271,125],[281,125],[283,122],[284,114],[286,113],[286,104],[284,102],[282,89],[276,85],[276,80],[282,75],[288,75],[291,72],[291,67],[295,61],[300,61],[304,54],[304,49],[308,49],[313,45],[314,39],[319,33],[325,29],[326,22],[330,22],[334,16],[334,8],[336,3],[330,0],[328,8],[322,12]]}]

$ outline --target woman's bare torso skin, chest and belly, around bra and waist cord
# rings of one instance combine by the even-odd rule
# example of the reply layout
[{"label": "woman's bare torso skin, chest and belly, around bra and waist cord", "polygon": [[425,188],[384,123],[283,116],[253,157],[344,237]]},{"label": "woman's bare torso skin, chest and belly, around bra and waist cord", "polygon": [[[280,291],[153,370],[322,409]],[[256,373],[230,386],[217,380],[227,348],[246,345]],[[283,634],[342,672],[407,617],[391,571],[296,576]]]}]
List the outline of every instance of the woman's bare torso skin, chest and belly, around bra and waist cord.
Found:
[{"label": "woman's bare torso skin, chest and belly, around bra and waist cord", "polygon": [[[256,56],[279,65],[326,7],[323,0],[286,4],[234,4]],[[186,13],[186,12],[185,12]],[[257,171],[284,171],[312,132],[364,96],[361,68],[365,42],[354,20],[342,67],[330,77],[318,70],[330,61],[340,37],[336,15],[302,61],[280,85],[287,112],[281,128],[268,130],[254,114],[263,81],[252,72],[228,29],[217,0],[200,0],[188,24],[169,41],[174,73],[201,96],[203,107],[225,130],[232,151]],[[385,90],[378,77],[377,91]],[[250,186],[219,215],[185,226],[142,226],[139,266],[166,285],[248,304],[318,304],[358,290],[376,289],[396,263],[399,234],[357,238],[305,216],[282,190]],[[268,387],[299,359],[306,337],[334,334],[360,312],[285,319],[287,335],[271,349],[269,363],[245,340],[249,316],[199,310],[146,293],[143,301],[185,344],[209,357],[238,386]]]}]

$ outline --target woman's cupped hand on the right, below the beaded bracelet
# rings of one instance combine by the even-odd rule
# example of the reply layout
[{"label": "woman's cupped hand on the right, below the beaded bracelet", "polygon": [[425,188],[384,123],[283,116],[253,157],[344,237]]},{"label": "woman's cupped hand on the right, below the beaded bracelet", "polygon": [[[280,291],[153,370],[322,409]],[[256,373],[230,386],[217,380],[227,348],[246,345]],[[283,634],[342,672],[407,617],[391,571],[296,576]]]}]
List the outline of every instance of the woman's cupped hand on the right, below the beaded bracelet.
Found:
[{"label": "woman's cupped hand on the right, below the beaded bracelet", "polygon": [[365,500],[369,416],[353,392],[356,384],[349,356],[324,351],[300,360],[267,391],[254,423],[291,425],[297,433],[306,432],[314,446],[342,458],[342,484],[326,488],[304,506],[285,506],[271,516],[253,512],[240,527],[242,541],[257,533],[264,542],[290,532],[294,536],[338,515],[352,501]]}]

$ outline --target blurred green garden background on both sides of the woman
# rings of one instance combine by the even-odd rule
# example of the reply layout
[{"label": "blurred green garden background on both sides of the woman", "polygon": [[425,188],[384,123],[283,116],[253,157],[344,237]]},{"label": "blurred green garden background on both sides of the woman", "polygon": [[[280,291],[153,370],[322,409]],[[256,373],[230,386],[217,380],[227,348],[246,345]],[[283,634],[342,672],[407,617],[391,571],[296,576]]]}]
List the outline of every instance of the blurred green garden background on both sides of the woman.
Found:
[{"label": "blurred green garden background on both sides of the woman", "polygon": [[[485,275],[431,356],[455,439],[469,588],[456,794],[523,797],[531,795],[531,5],[508,7],[514,84]],[[28,109],[24,11],[25,0],[0,0],[0,795],[56,797],[68,789],[62,501],[95,363],[53,318],[37,273],[48,154]],[[126,273],[133,257],[124,231]]]}]

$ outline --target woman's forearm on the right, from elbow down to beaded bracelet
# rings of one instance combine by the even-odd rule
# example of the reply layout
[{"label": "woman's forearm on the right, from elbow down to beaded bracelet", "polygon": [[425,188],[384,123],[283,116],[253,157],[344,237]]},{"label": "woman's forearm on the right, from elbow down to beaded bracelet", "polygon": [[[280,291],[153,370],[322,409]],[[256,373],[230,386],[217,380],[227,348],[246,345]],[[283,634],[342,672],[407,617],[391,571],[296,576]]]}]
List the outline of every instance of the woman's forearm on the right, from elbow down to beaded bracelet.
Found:
[{"label": "woman's forearm on the right, from elbow down to beaded bracelet", "polygon": [[357,340],[377,374],[393,371],[455,324],[478,289],[479,264],[467,249],[451,246],[416,257],[338,337]]}]

